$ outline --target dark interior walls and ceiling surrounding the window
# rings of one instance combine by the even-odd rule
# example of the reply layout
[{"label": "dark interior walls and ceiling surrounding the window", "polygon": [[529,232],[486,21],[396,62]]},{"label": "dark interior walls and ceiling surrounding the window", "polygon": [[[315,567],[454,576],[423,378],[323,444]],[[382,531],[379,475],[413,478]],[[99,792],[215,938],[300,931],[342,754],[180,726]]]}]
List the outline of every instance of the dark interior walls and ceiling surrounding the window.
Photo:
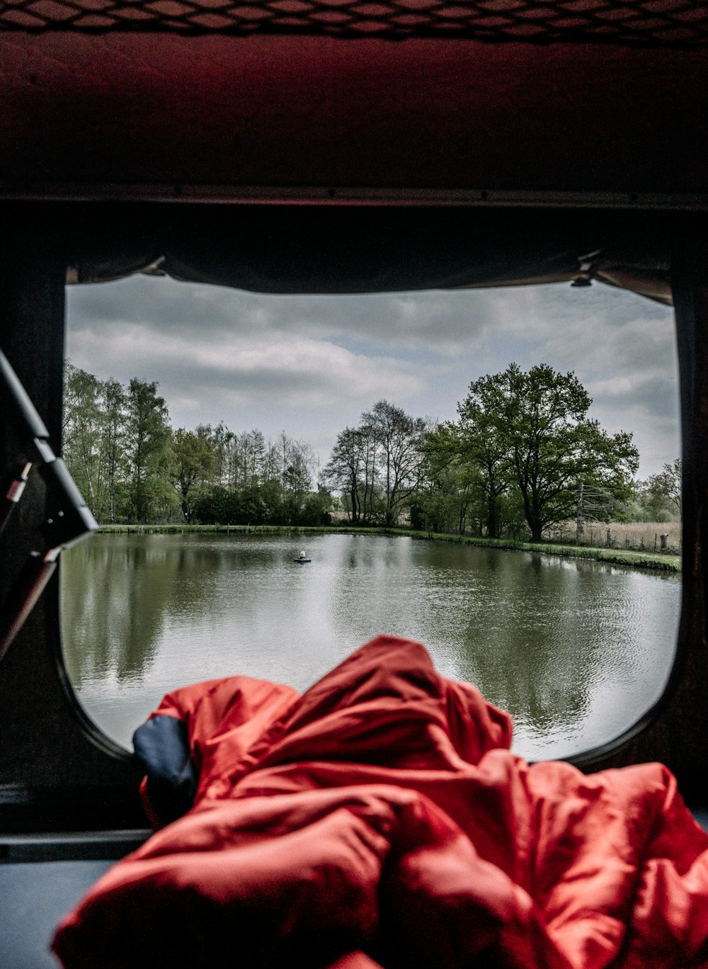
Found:
[{"label": "dark interior walls and ceiling surrounding the window", "polygon": [[[679,0],[0,2],[0,347],[58,450],[67,284],[139,271],[262,293],[594,281],[672,303],[676,663],[641,722],[574,763],[662,761],[700,811],[707,68],[708,5]],[[29,447],[6,405],[4,486]],[[6,608],[56,502],[33,476],[2,536]],[[56,578],[0,661],[0,733],[16,922],[34,891],[23,863],[35,879],[48,860],[77,872],[147,827],[137,767],[73,696]],[[17,938],[0,962],[51,964]]]}]

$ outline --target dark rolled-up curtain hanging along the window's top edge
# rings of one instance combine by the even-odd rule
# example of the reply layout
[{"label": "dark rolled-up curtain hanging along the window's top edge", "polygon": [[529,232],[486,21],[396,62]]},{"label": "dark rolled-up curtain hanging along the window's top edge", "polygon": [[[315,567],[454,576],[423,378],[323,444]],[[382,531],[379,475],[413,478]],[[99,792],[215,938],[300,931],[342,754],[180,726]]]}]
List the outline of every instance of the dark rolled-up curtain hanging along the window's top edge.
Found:
[{"label": "dark rolled-up curtain hanging along the window's top edge", "polygon": [[134,272],[261,293],[594,280],[670,302],[686,216],[475,207],[94,203],[48,209],[68,281]]}]

